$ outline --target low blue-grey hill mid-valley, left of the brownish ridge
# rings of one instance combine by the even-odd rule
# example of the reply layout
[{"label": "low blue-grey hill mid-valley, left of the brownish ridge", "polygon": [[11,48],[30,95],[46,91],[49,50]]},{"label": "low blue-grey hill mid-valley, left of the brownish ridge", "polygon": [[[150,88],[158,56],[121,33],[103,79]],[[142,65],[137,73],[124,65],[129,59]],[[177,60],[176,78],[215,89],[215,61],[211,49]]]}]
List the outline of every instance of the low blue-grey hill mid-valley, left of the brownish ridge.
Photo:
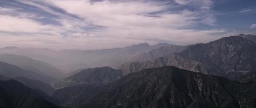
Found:
[{"label": "low blue-grey hill mid-valley, left of the brownish ridge", "polygon": [[107,66],[101,68],[89,68],[63,78],[63,82],[60,82],[55,86],[63,87],[80,84],[104,85],[114,82],[116,79],[121,77],[121,70],[115,70]]}]

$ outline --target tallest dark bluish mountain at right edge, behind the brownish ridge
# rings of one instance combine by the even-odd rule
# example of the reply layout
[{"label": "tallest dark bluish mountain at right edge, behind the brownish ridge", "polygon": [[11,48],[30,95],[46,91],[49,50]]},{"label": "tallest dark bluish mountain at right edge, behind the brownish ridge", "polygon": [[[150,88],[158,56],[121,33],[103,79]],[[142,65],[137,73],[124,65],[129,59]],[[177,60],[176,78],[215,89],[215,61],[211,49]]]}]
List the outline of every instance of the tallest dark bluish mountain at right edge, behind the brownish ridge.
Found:
[{"label": "tallest dark bluish mountain at right edge, behind the brownish ridge", "polygon": [[231,36],[207,44],[196,44],[179,53],[182,57],[212,64],[225,72],[256,71],[256,45],[250,40]]}]

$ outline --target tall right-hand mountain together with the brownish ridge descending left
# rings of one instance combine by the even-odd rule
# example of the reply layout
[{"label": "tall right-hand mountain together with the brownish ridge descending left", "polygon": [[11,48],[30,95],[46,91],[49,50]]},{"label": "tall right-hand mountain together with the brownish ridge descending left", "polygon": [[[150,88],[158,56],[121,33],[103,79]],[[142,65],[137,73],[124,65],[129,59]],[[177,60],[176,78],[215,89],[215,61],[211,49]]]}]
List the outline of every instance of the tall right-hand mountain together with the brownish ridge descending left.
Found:
[{"label": "tall right-hand mountain together with the brownish ridge descending left", "polygon": [[207,44],[189,45],[179,53],[156,58],[153,62],[130,62],[121,65],[124,74],[146,68],[172,65],[182,69],[234,78],[255,72],[256,45],[240,36],[224,37]]}]

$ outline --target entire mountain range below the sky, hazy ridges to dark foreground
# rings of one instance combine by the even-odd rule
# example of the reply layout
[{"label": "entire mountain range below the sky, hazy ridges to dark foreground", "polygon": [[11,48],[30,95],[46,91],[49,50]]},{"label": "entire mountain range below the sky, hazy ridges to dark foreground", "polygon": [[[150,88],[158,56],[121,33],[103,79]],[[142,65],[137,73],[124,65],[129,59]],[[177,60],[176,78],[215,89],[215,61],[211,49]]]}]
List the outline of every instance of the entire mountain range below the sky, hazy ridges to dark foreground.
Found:
[{"label": "entire mountain range below the sky, hazy ridges to dark foreground", "polygon": [[256,36],[102,50],[0,49],[0,108],[256,107]]}]

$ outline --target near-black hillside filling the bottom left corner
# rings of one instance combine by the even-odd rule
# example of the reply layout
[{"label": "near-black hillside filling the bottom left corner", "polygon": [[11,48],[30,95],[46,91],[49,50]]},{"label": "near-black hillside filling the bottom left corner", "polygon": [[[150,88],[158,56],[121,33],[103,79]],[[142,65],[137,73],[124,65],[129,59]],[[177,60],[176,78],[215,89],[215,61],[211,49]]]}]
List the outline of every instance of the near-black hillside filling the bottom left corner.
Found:
[{"label": "near-black hillside filling the bottom left corner", "polygon": [[0,107],[3,108],[58,108],[50,97],[35,91],[16,80],[0,81]]}]

